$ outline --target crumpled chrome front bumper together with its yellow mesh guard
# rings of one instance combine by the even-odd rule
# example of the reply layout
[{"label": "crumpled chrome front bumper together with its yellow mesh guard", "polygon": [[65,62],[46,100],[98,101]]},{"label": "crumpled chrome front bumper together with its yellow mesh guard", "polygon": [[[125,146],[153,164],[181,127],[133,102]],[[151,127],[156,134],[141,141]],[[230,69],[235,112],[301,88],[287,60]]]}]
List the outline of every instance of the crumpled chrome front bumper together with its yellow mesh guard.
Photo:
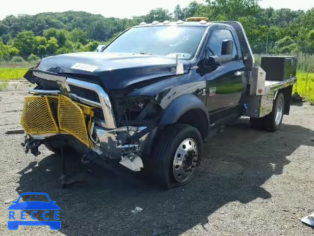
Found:
[{"label": "crumpled chrome front bumper together with its yellow mesh guard", "polygon": [[148,127],[107,129],[93,117],[93,107],[64,95],[26,97],[21,123],[30,136],[26,150],[47,142],[54,147],[72,146],[85,155],[85,162],[96,157],[118,160],[132,171],[143,167],[141,154],[148,142]]}]

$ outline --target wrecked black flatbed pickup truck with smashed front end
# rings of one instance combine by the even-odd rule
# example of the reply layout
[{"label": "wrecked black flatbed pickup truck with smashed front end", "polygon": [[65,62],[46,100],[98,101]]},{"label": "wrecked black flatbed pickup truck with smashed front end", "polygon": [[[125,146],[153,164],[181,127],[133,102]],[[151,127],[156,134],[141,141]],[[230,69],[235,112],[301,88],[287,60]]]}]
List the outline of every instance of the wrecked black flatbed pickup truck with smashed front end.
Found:
[{"label": "wrecked black flatbed pickup truck with smashed front end", "polygon": [[82,162],[116,161],[165,188],[201,164],[203,140],[241,116],[275,131],[289,114],[296,57],[255,64],[238,22],[204,18],[124,31],[102,52],[48,57],[25,78],[23,146],[75,148]]}]

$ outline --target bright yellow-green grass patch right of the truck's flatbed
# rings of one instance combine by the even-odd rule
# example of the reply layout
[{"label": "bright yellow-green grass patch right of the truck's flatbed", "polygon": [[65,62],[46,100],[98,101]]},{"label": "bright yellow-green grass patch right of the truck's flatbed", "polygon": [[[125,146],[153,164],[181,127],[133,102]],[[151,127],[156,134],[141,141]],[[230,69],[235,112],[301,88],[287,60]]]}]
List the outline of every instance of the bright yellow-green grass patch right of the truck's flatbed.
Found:
[{"label": "bright yellow-green grass patch right of the truck's flatbed", "polygon": [[298,81],[293,86],[293,91],[298,92],[301,97],[304,97],[310,102],[314,102],[314,73],[298,72]]}]

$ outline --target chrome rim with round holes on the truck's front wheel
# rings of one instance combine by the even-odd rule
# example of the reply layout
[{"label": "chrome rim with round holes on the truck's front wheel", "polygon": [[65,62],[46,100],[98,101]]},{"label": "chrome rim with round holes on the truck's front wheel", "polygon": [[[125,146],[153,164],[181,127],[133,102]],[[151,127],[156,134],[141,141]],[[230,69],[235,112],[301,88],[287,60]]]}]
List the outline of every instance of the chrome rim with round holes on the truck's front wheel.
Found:
[{"label": "chrome rim with round holes on the truck's front wheel", "polygon": [[197,163],[197,144],[193,139],[185,139],[177,148],[173,158],[173,176],[184,182],[192,176]]}]

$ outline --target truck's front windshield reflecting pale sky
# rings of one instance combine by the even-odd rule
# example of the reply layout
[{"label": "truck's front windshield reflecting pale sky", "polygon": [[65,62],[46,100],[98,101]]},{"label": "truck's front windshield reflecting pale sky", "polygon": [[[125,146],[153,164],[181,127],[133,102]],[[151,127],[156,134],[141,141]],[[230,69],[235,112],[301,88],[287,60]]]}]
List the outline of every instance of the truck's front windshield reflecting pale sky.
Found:
[{"label": "truck's front windshield reflecting pale sky", "polygon": [[138,53],[191,59],[206,27],[153,26],[131,28],[108,47],[106,53]]}]

